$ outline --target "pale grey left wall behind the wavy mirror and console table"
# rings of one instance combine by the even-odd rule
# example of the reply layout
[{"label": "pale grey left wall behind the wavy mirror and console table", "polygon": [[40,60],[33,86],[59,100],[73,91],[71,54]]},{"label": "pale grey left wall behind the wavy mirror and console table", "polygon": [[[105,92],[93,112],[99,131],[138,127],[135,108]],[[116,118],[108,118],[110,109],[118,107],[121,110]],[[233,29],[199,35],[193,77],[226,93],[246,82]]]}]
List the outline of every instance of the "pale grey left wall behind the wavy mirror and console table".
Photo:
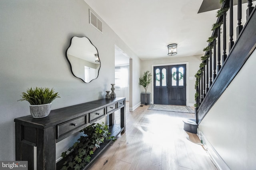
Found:
[{"label": "pale grey left wall behind the wavy mirror and console table", "polygon": [[[17,101],[21,93],[53,87],[61,98],[52,109],[104,98],[114,83],[115,44],[133,59],[131,105],[139,102],[140,59],[106,23],[103,34],[89,24],[83,0],[1,0],[0,23],[0,160],[15,160],[14,118],[30,115],[29,103]],[[73,36],[88,37],[98,49],[102,64],[91,83],[71,74],[65,52]]]}]

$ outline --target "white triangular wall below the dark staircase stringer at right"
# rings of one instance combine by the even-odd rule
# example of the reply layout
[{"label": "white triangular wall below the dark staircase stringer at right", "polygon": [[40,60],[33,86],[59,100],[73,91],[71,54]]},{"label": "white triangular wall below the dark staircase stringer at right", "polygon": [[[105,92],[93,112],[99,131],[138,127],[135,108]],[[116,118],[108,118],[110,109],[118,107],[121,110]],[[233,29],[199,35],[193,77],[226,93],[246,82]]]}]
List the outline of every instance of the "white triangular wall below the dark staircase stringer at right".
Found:
[{"label": "white triangular wall below the dark staircase stringer at right", "polygon": [[199,130],[232,170],[256,168],[256,51],[246,61]]}]

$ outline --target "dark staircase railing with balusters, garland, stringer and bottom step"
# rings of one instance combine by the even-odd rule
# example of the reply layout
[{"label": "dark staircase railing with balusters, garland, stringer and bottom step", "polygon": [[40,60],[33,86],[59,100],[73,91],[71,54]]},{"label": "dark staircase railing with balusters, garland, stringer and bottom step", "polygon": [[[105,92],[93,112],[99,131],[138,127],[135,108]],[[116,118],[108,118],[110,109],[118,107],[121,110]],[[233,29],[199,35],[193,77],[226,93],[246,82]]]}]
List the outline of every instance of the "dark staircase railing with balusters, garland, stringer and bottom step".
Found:
[{"label": "dark staircase railing with balusters, garland, stringer and bottom step", "polygon": [[[205,55],[201,57],[200,69],[195,75],[196,116],[194,120],[184,120],[184,130],[188,132],[197,133],[194,129],[204,119],[256,47],[256,12],[252,7],[252,0],[248,0],[247,7],[246,11],[242,11],[242,0],[238,0],[236,14],[238,18],[234,21],[233,0],[226,0],[222,4],[223,15],[219,16],[214,24],[216,28],[209,38],[208,47],[204,49]],[[242,12],[246,12],[244,26],[241,24]],[[238,23],[235,42],[233,41],[234,23]],[[227,26],[229,27],[228,36]]]}]

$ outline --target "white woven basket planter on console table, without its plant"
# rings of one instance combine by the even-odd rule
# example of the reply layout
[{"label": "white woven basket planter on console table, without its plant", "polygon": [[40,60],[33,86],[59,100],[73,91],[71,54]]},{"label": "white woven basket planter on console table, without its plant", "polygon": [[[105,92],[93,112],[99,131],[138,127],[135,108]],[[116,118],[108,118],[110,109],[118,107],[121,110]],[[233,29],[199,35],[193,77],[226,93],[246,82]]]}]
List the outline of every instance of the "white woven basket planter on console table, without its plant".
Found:
[{"label": "white woven basket planter on console table, without its plant", "polygon": [[52,103],[44,105],[30,105],[30,114],[34,118],[43,118],[49,115]]}]

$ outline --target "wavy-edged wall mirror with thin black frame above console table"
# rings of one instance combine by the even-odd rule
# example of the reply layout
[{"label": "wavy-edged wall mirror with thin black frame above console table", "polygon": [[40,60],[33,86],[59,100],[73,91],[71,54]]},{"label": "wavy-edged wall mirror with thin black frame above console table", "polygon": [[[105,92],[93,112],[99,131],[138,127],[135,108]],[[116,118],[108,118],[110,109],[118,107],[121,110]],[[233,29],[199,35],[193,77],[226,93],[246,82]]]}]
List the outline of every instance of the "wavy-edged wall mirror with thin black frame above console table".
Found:
[{"label": "wavy-edged wall mirror with thin black frame above console table", "polygon": [[89,83],[96,79],[100,70],[100,58],[97,48],[87,37],[73,37],[66,51],[71,73]]}]

